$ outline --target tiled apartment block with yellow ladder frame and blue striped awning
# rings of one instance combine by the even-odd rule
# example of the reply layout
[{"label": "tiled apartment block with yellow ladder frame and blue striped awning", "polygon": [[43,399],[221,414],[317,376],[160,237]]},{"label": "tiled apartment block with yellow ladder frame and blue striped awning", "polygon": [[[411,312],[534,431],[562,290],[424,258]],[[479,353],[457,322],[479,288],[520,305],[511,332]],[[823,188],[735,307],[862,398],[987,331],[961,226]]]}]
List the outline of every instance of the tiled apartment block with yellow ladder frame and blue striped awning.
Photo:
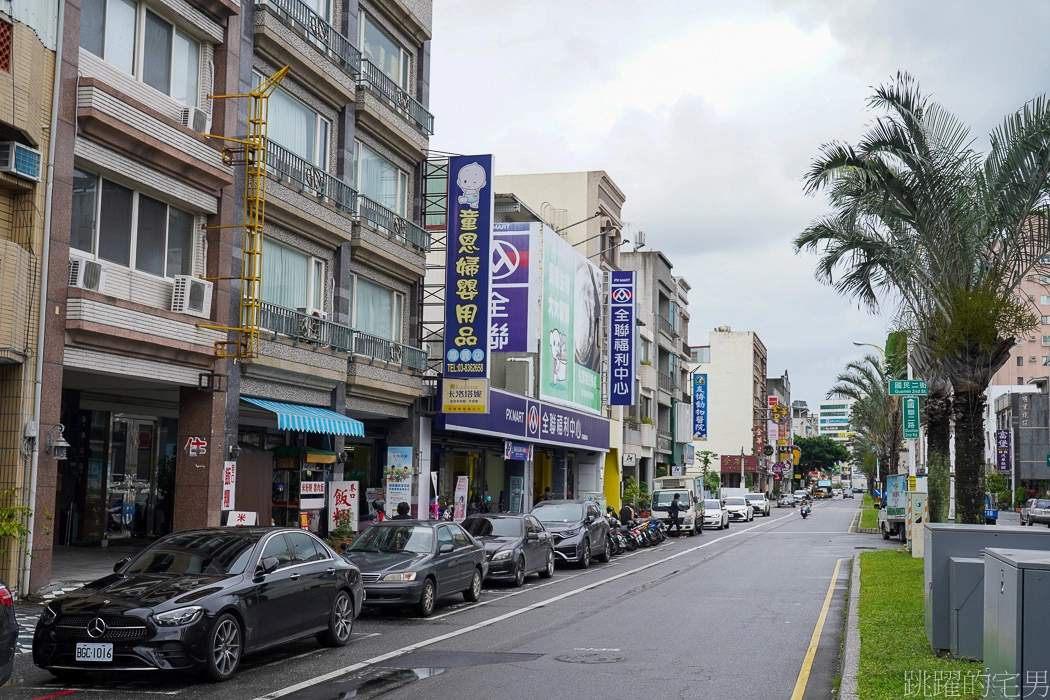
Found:
[{"label": "tiled apartment block with yellow ladder frame and blue striped awning", "polygon": [[[49,272],[68,285],[48,288],[64,342],[41,425],[71,447],[37,497],[54,542],[217,525],[228,463],[237,510],[323,528],[302,482],[378,486],[385,447],[418,446],[430,3],[91,0],[65,21]],[[209,99],[286,65],[266,111]],[[261,188],[261,158],[222,139],[260,132]],[[51,549],[34,543],[33,588]]]}]

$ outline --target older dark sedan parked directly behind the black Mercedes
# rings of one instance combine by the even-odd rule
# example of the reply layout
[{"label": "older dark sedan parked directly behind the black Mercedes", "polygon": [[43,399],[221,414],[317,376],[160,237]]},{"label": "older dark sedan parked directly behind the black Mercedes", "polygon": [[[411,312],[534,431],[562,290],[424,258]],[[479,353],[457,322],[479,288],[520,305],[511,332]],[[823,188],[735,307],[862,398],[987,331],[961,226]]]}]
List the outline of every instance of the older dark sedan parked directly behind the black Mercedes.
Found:
[{"label": "older dark sedan parked directly behind the black Mercedes", "polygon": [[354,540],[346,558],[361,570],[366,606],[415,606],[426,617],[440,597],[481,598],[485,548],[455,523],[376,523]]}]

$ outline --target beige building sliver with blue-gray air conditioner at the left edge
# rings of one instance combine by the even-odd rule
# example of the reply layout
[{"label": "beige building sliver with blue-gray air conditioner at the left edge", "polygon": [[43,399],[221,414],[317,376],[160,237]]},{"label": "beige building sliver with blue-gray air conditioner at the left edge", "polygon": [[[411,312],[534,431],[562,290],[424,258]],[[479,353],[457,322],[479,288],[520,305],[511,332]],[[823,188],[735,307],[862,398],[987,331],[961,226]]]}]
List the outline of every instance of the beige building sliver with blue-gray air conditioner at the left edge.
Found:
[{"label": "beige building sliver with blue-gray air conditioner at the left edge", "polygon": [[[0,505],[34,507],[54,495],[52,426],[39,426],[41,281],[55,209],[48,174],[62,152],[52,134],[59,36],[57,5],[5,3],[0,12]],[[32,468],[27,469],[32,464]],[[36,474],[41,476],[34,479]],[[30,526],[34,523],[30,521]],[[36,533],[47,521],[37,519]],[[43,536],[43,535],[42,535]],[[40,543],[45,544],[45,543]],[[0,547],[0,578],[28,591],[35,539]]]}]

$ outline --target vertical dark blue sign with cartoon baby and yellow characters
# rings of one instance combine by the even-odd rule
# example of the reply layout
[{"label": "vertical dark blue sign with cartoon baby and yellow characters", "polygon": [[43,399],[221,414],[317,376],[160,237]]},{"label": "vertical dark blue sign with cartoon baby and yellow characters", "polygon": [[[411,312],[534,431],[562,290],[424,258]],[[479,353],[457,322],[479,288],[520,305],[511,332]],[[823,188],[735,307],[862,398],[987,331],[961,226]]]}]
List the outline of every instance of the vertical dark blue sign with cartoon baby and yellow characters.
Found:
[{"label": "vertical dark blue sign with cartoon baby and yellow characters", "polygon": [[445,377],[488,378],[492,156],[448,158]]}]

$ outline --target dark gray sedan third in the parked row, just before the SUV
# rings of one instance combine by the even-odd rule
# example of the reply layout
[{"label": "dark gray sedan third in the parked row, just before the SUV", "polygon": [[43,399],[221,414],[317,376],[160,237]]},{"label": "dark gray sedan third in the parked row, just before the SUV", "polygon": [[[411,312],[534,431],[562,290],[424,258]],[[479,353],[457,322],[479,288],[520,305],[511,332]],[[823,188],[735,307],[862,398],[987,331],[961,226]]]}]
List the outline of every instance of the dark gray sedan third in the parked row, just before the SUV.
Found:
[{"label": "dark gray sedan third in the parked row, just before the SUV", "polygon": [[531,573],[554,575],[554,542],[534,515],[477,513],[463,527],[485,546],[488,578],[522,586]]}]

